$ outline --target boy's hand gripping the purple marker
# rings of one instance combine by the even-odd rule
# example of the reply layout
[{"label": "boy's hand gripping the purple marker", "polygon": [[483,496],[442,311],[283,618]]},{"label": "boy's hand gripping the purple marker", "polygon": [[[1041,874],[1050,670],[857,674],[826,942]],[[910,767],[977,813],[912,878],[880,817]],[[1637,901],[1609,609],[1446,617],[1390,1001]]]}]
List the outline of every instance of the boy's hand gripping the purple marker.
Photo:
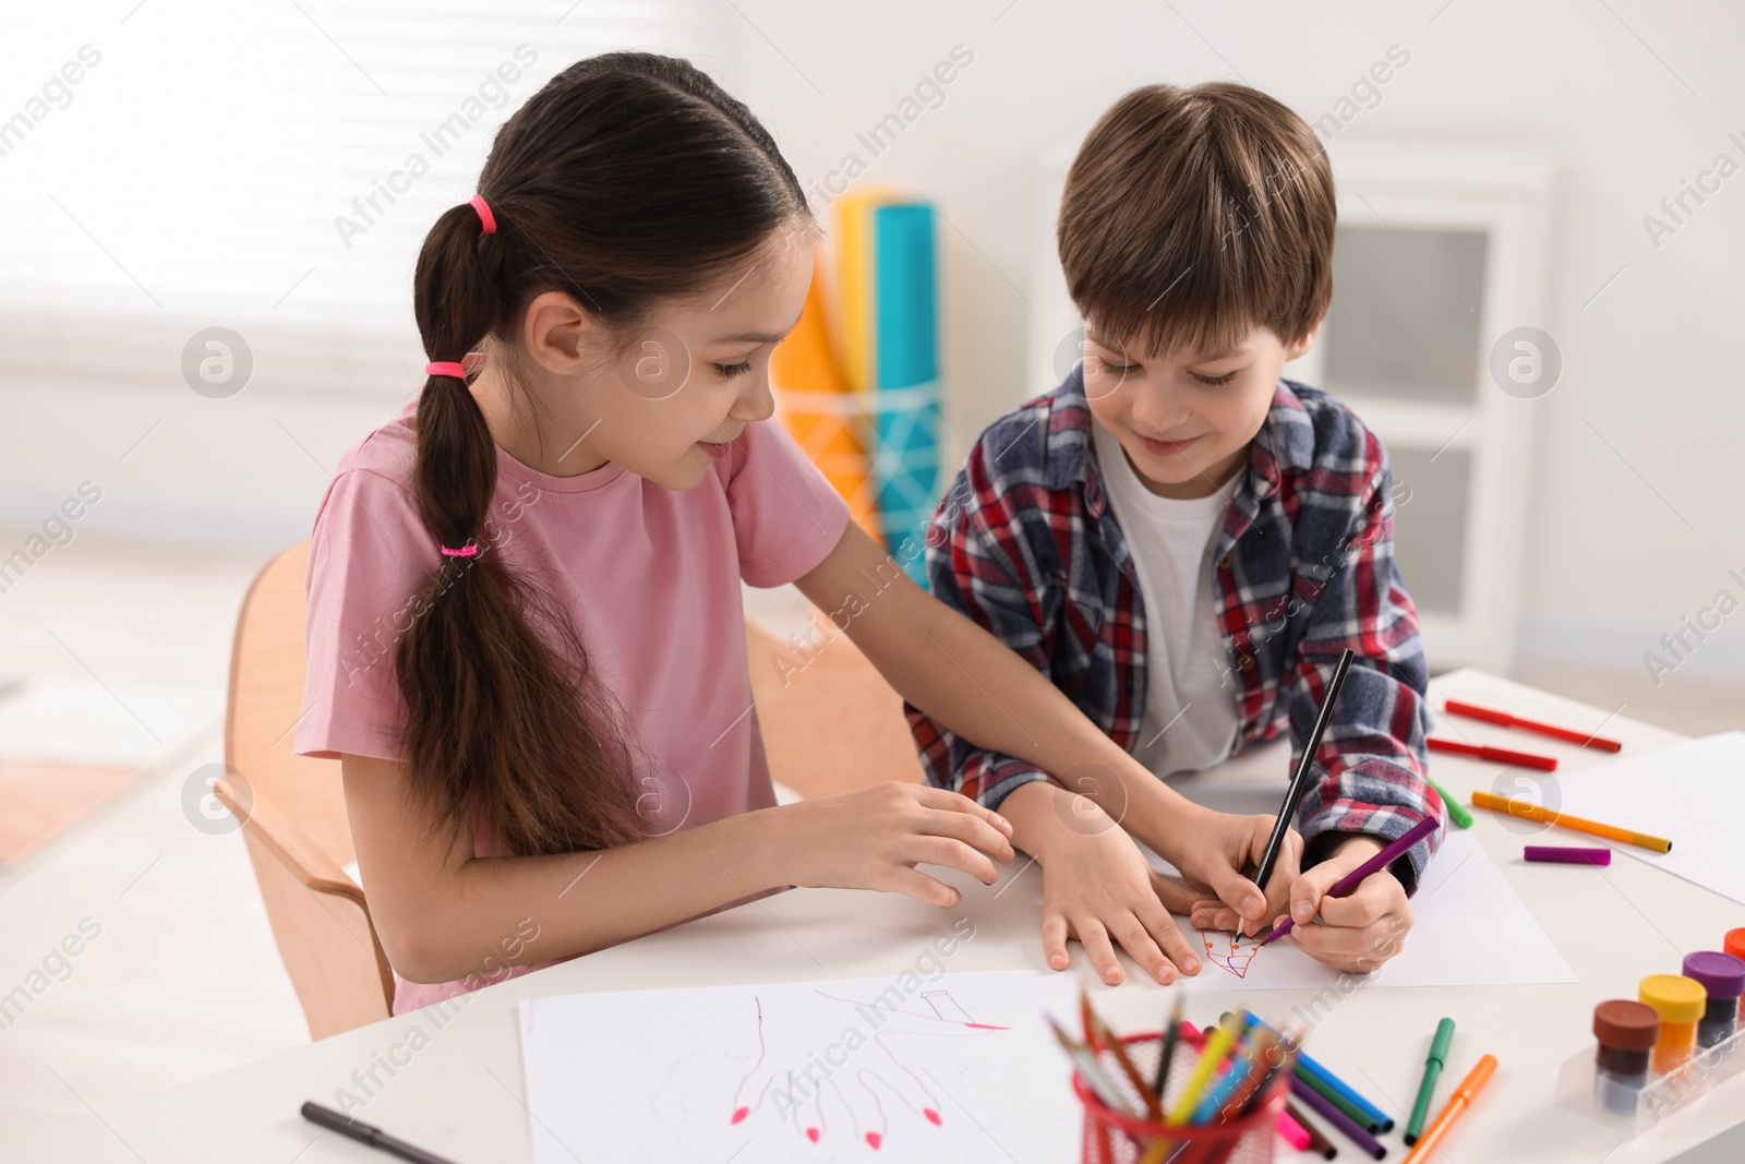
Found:
[{"label": "boy's hand gripping the purple marker", "polygon": [[[1352,974],[1368,974],[1398,955],[1413,920],[1399,878],[1380,869],[1345,897],[1326,895],[1335,881],[1382,848],[1386,843],[1380,838],[1358,832],[1344,838],[1331,857],[1298,876],[1290,894],[1297,925],[1284,935],[1286,941],[1297,942],[1316,962]],[[1316,914],[1321,916],[1321,925],[1314,925]],[[1283,920],[1279,914],[1277,921]]]}]

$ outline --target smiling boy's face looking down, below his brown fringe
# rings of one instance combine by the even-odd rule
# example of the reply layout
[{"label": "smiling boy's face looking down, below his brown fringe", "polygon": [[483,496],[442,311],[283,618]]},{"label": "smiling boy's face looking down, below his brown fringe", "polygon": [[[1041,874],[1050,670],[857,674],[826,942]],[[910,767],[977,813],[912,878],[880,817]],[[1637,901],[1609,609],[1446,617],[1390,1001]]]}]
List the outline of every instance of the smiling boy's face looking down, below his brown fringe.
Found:
[{"label": "smiling boy's face looking down, below his brown fringe", "polygon": [[1319,332],[1317,323],[1284,344],[1272,328],[1249,328],[1227,353],[1150,356],[1085,321],[1085,400],[1146,489],[1160,497],[1208,497],[1248,461],[1279,370],[1307,353]]}]

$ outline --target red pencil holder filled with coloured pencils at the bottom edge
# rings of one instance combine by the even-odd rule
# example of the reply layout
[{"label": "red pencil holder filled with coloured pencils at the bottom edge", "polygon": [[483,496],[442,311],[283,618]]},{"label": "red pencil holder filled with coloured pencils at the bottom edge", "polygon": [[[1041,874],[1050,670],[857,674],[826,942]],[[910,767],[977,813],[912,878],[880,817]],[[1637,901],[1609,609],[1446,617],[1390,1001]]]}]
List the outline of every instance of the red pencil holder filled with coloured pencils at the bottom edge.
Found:
[{"label": "red pencil holder filled with coloured pencils at the bottom edge", "polygon": [[[1139,1077],[1153,1078],[1157,1058],[1162,1054],[1162,1037],[1127,1035],[1120,1042]],[[1204,1042],[1204,1031],[1192,1035],[1183,1031],[1176,1042],[1176,1052],[1169,1059],[1169,1078],[1164,1080],[1162,1106],[1166,1112],[1187,1087]],[[1145,1106],[1133,1089],[1133,1082],[1120,1070],[1115,1052],[1103,1051],[1098,1056],[1098,1066],[1120,1089],[1122,1099],[1136,1108]],[[1255,1099],[1253,1108],[1228,1124],[1164,1127],[1148,1119],[1115,1112],[1098,1099],[1078,1072],[1073,1072],[1073,1092],[1085,1106],[1080,1143],[1084,1164],[1164,1164],[1166,1161],[1169,1164],[1267,1164],[1272,1161],[1277,1141],[1279,1112],[1284,1110],[1284,1099],[1290,1096],[1290,1072],[1279,1072],[1267,1084],[1267,1091]]]}]

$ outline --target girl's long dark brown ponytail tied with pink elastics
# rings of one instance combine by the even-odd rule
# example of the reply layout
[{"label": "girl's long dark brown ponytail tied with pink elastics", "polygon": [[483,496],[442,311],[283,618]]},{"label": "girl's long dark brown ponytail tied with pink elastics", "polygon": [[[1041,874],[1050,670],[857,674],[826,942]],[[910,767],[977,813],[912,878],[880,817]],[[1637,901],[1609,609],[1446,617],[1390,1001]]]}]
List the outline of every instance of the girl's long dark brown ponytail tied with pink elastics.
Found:
[{"label": "girl's long dark brown ponytail tied with pink elastics", "polygon": [[[490,297],[476,293],[485,264],[468,265],[496,241],[464,206],[443,215],[431,237],[417,284],[441,279],[452,290],[429,304],[438,311],[424,328],[426,347],[459,363],[494,323]],[[475,293],[461,290],[468,284]],[[569,620],[508,569],[487,536],[497,450],[464,379],[424,382],[417,436],[419,513],[443,560],[398,646],[414,787],[438,820],[469,822],[480,811],[511,853],[635,839],[628,749],[588,654]]]}]

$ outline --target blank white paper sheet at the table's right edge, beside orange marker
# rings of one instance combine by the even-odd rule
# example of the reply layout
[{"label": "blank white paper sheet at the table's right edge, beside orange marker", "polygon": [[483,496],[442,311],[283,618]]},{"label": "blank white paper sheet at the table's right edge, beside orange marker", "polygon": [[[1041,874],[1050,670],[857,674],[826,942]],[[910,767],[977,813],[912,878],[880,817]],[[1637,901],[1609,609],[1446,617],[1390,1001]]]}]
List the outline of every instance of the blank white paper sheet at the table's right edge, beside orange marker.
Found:
[{"label": "blank white paper sheet at the table's right edge, beside orange marker", "polygon": [[[1557,777],[1560,811],[1672,841],[1670,853],[1611,845],[1722,897],[1745,902],[1745,731],[1724,731]],[[1607,845],[1548,829],[1551,845]]]}]

